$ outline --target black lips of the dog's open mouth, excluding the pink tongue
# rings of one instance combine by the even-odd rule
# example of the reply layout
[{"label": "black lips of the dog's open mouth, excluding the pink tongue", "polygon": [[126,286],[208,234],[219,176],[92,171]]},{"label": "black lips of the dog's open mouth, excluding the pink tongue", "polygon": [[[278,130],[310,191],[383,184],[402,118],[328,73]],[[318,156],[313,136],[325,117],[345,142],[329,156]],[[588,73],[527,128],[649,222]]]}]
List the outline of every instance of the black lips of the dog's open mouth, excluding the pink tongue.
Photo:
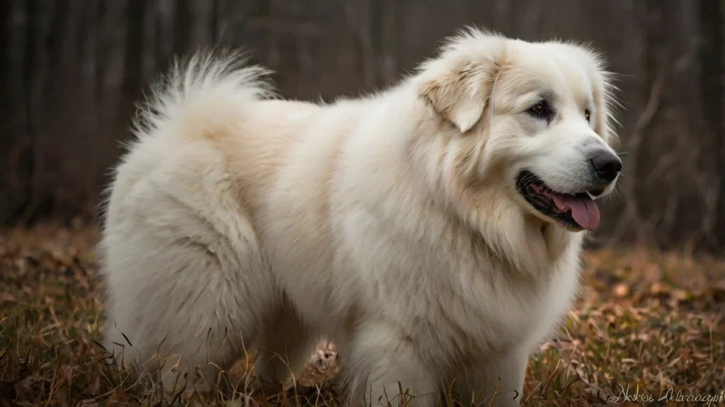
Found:
[{"label": "black lips of the dog's open mouth, excluding the pink tongue", "polygon": [[592,200],[601,196],[605,191],[605,188],[592,188],[590,190],[581,190],[574,193],[561,193],[550,188],[539,177],[537,177],[537,175],[534,175],[534,173],[529,170],[523,170],[518,174],[518,177],[516,178],[516,188],[518,193],[520,193],[521,196],[523,196],[523,198],[534,207],[534,209],[539,211],[545,217],[554,219],[563,227],[573,231],[581,231],[583,228],[573,219],[571,212],[558,211],[552,200],[542,196],[541,193],[535,193],[535,190],[532,189],[532,185],[538,186],[538,188],[542,188],[544,190],[549,190],[551,193],[577,196],[581,199]]}]

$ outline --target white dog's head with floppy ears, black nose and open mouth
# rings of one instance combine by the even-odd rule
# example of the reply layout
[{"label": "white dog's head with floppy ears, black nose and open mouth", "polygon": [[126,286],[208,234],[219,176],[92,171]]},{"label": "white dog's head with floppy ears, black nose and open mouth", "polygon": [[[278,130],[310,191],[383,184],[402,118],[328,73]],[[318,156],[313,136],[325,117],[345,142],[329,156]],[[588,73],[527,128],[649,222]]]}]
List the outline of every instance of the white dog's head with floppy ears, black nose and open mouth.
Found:
[{"label": "white dog's head with floppy ears, black nose and open mouth", "polygon": [[468,201],[494,187],[566,230],[593,230],[595,199],[621,170],[613,85],[592,49],[477,30],[421,67],[418,93],[439,122],[442,177]]}]

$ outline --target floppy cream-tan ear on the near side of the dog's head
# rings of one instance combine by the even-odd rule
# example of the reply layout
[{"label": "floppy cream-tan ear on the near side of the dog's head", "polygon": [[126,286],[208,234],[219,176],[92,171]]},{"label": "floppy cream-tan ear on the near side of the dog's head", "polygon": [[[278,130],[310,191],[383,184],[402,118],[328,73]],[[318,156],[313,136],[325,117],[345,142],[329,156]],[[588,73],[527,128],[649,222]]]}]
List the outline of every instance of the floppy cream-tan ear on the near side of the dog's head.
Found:
[{"label": "floppy cream-tan ear on the near side of the dog's head", "polygon": [[489,103],[498,66],[487,61],[437,62],[421,75],[418,92],[441,117],[465,133],[479,122]]}]

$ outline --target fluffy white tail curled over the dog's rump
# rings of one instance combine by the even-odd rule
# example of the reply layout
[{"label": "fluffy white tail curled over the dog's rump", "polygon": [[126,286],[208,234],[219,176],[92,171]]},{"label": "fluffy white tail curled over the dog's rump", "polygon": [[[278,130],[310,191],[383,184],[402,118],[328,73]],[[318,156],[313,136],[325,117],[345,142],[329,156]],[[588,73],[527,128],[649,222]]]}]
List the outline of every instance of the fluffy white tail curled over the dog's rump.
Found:
[{"label": "fluffy white tail curled over the dog's rump", "polygon": [[224,131],[252,101],[275,96],[269,70],[249,65],[243,51],[204,51],[175,60],[138,106],[133,133],[138,141],[164,134],[202,137]]}]

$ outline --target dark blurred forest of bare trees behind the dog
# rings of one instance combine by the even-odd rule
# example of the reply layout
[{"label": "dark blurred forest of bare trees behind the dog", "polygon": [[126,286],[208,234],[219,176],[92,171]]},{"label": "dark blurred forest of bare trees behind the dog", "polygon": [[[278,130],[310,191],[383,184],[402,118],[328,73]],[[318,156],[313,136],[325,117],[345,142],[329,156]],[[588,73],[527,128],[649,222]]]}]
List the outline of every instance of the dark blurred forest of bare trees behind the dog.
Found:
[{"label": "dark blurred forest of bare trees behind the dog", "polygon": [[624,177],[595,243],[725,247],[721,0],[0,0],[0,224],[97,220],[175,54],[244,46],[283,96],[381,88],[479,25],[591,41],[621,74]]}]

